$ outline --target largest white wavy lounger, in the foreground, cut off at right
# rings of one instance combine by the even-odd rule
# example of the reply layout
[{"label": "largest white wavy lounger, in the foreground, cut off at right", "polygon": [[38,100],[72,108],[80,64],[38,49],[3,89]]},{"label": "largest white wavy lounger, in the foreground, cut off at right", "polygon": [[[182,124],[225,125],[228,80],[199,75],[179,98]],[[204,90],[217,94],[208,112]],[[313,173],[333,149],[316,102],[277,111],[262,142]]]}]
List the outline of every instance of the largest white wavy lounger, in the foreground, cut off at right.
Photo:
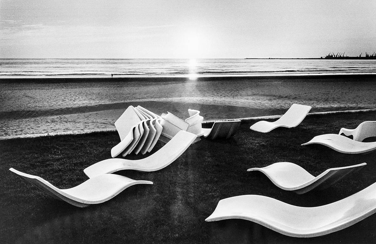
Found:
[{"label": "largest white wavy lounger, in the foreground, cut off at right", "polygon": [[376,212],[376,183],[364,190],[317,207],[300,207],[271,197],[244,195],[218,202],[206,221],[244,219],[284,235],[314,237],[349,227]]}]

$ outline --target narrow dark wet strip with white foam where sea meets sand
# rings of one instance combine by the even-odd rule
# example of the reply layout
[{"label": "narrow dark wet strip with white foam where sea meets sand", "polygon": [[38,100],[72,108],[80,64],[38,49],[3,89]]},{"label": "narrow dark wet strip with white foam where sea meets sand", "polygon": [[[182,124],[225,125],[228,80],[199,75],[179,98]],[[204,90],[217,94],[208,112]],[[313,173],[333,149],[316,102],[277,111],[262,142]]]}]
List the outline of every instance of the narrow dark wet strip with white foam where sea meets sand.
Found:
[{"label": "narrow dark wet strip with white foam where sea meets sand", "polygon": [[80,83],[80,82],[133,82],[133,81],[152,81],[152,82],[165,82],[165,81],[224,81],[224,80],[250,80],[250,81],[322,81],[322,80],[346,80],[350,81],[357,78],[361,81],[374,81],[376,74],[265,74],[265,75],[226,75],[226,76],[198,76],[198,77],[171,77],[171,76],[143,76],[143,77],[67,77],[66,75],[56,77],[0,77],[1,83]]}]

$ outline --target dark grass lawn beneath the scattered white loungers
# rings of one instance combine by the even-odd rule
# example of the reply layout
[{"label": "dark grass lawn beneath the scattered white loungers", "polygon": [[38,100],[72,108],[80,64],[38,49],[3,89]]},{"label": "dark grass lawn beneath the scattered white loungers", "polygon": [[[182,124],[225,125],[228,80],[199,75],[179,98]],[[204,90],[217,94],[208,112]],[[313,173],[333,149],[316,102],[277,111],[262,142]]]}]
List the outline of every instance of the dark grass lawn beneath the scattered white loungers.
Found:
[{"label": "dark grass lawn beneath the scattered white loungers", "polygon": [[[18,178],[8,169],[38,175],[59,188],[85,181],[83,169],[110,158],[117,133],[0,141],[1,243],[207,243],[368,242],[376,243],[376,215],[344,230],[316,238],[292,238],[245,220],[205,222],[220,199],[260,194],[298,206],[325,205],[376,182],[376,152],[341,154],[321,145],[300,146],[314,136],[376,120],[376,112],[311,115],[296,128],[256,133],[242,123],[229,140],[202,139],[170,166],[156,172],[118,174],[153,181],[127,188],[108,202],[77,208]],[[160,147],[161,145],[158,145]],[[155,151],[155,150],[153,150]],[[147,155],[145,155],[147,156]],[[145,157],[142,156],[142,157]],[[127,157],[128,158],[128,157]],[[130,159],[140,156],[129,156]],[[323,191],[303,195],[277,188],[251,167],[288,161],[313,175],[331,167],[367,163]]]}]

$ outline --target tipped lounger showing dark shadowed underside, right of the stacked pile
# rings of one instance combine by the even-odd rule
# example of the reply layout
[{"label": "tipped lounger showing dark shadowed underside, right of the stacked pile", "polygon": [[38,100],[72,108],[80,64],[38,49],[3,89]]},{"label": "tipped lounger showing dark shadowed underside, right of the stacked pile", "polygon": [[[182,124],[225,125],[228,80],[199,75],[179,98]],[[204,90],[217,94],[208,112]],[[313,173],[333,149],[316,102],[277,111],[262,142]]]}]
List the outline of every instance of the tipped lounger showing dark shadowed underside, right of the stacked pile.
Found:
[{"label": "tipped lounger showing dark shadowed underside, right of the stacked pile", "polygon": [[215,139],[217,137],[225,137],[228,139],[232,134],[235,133],[237,128],[240,126],[240,120],[232,121],[215,121],[212,128],[203,128],[203,137],[209,137],[210,139]]}]

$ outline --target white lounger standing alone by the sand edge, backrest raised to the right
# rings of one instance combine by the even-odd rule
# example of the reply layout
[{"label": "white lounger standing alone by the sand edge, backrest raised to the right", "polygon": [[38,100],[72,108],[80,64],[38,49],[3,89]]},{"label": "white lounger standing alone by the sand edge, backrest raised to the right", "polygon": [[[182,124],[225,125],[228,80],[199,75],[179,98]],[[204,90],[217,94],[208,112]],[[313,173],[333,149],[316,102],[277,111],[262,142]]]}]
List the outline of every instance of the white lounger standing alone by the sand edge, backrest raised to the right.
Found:
[{"label": "white lounger standing alone by the sand edge, backrest raised to the right", "polygon": [[269,132],[274,130],[277,127],[287,127],[292,128],[299,125],[303,119],[307,116],[309,110],[311,110],[311,106],[307,105],[300,105],[300,104],[293,104],[287,112],[282,115],[278,120],[274,122],[268,122],[265,120],[261,120],[253,124],[250,129],[259,132]]}]

